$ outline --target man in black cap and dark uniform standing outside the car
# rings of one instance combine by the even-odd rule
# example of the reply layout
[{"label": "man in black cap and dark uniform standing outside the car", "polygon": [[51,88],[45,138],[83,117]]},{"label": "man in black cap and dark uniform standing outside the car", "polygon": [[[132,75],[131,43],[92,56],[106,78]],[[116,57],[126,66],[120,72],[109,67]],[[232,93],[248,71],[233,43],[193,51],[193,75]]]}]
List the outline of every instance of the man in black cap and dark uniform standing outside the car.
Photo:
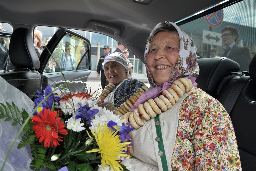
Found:
[{"label": "man in black cap and dark uniform standing outside the car", "polygon": [[98,66],[97,66],[97,77],[99,78],[100,75],[99,75],[99,72],[101,71],[101,87],[102,89],[105,88],[106,86],[106,83],[107,83],[107,78],[104,74],[104,59],[110,54],[110,48],[109,46],[105,45],[104,48],[103,48],[103,51],[104,51],[104,55],[101,55],[100,58],[99,58],[99,62],[98,62]]}]

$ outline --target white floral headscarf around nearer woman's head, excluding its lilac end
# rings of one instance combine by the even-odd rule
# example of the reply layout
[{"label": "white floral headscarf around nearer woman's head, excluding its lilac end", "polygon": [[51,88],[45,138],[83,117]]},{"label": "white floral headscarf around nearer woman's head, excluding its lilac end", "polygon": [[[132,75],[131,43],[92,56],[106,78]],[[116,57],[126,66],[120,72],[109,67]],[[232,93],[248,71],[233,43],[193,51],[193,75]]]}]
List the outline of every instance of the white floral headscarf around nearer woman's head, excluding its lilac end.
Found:
[{"label": "white floral headscarf around nearer woman's head, excluding its lilac end", "polygon": [[146,58],[149,53],[150,42],[153,36],[152,34],[154,34],[157,29],[164,26],[173,26],[174,28],[176,28],[180,37],[179,55],[173,67],[172,73],[170,73],[168,83],[172,84],[175,80],[184,77],[189,78],[192,81],[192,83],[195,83],[195,80],[199,74],[199,67],[197,64],[196,49],[194,47],[193,40],[185,32],[183,32],[176,24],[170,21],[163,21],[157,24],[155,28],[151,31],[145,46],[144,60],[147,70],[147,77],[149,79],[150,85],[157,87],[147,66]]}]

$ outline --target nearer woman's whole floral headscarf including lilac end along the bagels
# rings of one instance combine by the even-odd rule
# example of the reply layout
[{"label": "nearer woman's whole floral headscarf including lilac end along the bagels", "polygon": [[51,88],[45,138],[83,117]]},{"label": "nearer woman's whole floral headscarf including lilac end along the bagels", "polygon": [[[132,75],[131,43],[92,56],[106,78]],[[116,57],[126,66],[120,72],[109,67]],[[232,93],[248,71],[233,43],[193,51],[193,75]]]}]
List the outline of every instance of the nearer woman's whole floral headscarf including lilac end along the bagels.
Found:
[{"label": "nearer woman's whole floral headscarf including lilac end along the bagels", "polygon": [[[149,67],[147,66],[146,58],[149,53],[151,39],[154,36],[153,34],[157,29],[164,26],[173,26],[174,28],[176,28],[180,38],[180,49],[178,58],[176,60],[172,72],[170,73],[168,82],[163,83],[163,85],[157,86],[149,71]],[[183,32],[176,24],[170,21],[163,21],[161,23],[158,23],[151,31],[145,46],[144,60],[149,83],[155,88],[152,88],[149,91],[143,93],[130,111],[133,111],[135,108],[138,107],[139,104],[142,104],[145,101],[147,101],[147,99],[158,97],[158,95],[160,95],[162,91],[167,90],[170,87],[170,85],[179,78],[188,78],[192,81],[194,86],[197,86],[195,80],[199,74],[199,67],[197,63],[196,49],[194,47],[193,40],[185,32]]]}]

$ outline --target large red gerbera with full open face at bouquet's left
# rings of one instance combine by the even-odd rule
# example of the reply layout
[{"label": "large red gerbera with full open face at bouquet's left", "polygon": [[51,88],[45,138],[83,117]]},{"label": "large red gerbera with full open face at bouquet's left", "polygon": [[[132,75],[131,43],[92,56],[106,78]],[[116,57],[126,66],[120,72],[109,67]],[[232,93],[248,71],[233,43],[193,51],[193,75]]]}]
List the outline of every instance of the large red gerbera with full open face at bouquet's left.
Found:
[{"label": "large red gerbera with full open face at bouquet's left", "polygon": [[[39,143],[44,141],[44,147],[56,147],[59,144],[58,141],[62,142],[63,138],[58,136],[58,133],[62,135],[67,135],[67,130],[64,129],[64,122],[60,122],[60,118],[56,118],[58,112],[51,112],[50,109],[44,109],[44,112],[40,112],[40,116],[33,116],[32,123],[35,125],[32,126],[32,129],[35,131],[36,138],[39,138]],[[58,130],[58,132],[57,132]]]}]

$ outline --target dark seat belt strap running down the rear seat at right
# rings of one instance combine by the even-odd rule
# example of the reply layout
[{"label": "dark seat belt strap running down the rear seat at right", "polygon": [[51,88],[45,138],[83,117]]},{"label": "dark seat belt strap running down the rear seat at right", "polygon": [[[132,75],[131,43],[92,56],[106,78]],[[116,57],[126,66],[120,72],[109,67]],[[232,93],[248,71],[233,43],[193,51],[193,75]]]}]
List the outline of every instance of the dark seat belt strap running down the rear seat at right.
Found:
[{"label": "dark seat belt strap running down the rear seat at right", "polygon": [[242,72],[242,76],[235,82],[233,87],[231,88],[223,106],[230,114],[231,110],[233,109],[243,87],[247,83],[247,80],[250,79],[250,76],[248,76],[249,72]]}]

